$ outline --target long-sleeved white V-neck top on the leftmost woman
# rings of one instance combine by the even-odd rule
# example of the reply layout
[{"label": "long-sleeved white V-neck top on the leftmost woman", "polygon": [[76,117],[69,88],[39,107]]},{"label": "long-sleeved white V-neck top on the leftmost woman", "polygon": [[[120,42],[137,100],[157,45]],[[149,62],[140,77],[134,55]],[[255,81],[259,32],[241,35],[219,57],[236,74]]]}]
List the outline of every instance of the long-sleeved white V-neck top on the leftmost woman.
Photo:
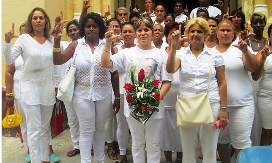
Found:
[{"label": "long-sleeved white V-neck top on the leftmost woman", "polygon": [[20,35],[14,46],[4,42],[6,64],[14,63],[22,56],[24,68],[20,81],[20,99],[28,105],[53,105],[55,86],[53,83],[53,37],[39,44],[29,34]]}]

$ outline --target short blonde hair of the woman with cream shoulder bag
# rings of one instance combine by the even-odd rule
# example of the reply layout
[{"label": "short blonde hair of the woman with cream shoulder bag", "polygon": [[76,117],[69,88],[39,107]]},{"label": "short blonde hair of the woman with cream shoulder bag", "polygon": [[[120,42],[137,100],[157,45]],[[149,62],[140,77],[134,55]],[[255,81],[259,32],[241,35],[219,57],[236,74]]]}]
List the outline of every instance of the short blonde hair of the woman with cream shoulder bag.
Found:
[{"label": "short blonde hair of the woman with cream shoulder bag", "polygon": [[209,23],[207,22],[207,20],[205,20],[204,18],[202,17],[197,17],[197,18],[193,18],[191,19],[188,24],[186,25],[186,28],[185,28],[185,31],[184,31],[184,34],[186,37],[189,36],[189,30],[191,29],[191,27],[195,24],[198,24],[201,26],[201,28],[203,29],[204,31],[204,34],[205,34],[205,40],[210,36],[211,34],[211,29],[209,27]]}]

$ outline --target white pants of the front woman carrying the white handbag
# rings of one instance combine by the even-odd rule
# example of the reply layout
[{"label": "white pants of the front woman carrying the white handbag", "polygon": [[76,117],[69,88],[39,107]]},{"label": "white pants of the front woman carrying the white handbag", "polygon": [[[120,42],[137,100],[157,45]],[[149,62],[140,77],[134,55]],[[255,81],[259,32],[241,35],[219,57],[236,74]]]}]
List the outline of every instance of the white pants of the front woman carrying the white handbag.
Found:
[{"label": "white pants of the front woman carrying the white handbag", "polygon": [[91,148],[94,148],[95,163],[104,163],[104,126],[109,111],[112,111],[111,94],[95,101],[73,97],[73,106],[79,120],[79,149],[81,163],[91,163]]}]

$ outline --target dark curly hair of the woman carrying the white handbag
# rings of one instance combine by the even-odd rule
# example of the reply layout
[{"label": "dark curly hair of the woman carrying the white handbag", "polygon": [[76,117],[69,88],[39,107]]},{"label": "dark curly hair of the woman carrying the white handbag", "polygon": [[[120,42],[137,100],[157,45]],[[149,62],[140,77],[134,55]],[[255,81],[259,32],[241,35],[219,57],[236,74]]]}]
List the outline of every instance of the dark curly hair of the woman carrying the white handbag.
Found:
[{"label": "dark curly hair of the woman carrying the white handbag", "polygon": [[105,33],[107,31],[107,28],[104,25],[104,21],[103,21],[102,17],[98,13],[94,13],[94,12],[88,13],[82,19],[82,22],[80,24],[80,37],[85,36],[84,28],[87,23],[87,20],[89,20],[89,19],[92,19],[99,26],[99,38],[103,39],[105,36]]}]

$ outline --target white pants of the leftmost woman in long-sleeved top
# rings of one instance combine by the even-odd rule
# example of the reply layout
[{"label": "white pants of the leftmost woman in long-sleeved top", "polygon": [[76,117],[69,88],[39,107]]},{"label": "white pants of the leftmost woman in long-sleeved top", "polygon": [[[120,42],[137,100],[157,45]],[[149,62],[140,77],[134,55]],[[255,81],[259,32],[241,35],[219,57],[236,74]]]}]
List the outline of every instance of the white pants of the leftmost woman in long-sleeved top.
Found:
[{"label": "white pants of the leftmost woman in long-sleeved top", "polygon": [[21,104],[26,116],[27,141],[31,163],[41,163],[41,160],[50,161],[50,121],[54,105],[27,105],[23,101]]}]

